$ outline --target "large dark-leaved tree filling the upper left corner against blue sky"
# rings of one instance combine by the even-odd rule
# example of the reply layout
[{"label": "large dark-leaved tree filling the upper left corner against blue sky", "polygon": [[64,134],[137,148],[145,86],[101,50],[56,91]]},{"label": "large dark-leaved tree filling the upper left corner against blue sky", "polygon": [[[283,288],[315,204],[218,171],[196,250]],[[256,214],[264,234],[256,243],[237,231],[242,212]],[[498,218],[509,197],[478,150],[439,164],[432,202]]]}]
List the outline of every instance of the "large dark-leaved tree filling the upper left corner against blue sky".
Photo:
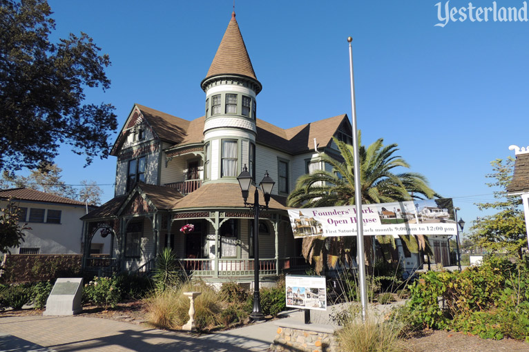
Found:
[{"label": "large dark-leaved tree filling the upper left corner against blue sky", "polygon": [[86,33],[50,42],[55,21],[46,0],[0,0],[0,170],[50,164],[60,144],[93,158],[108,157],[117,128],[110,104],[83,104],[84,88],[110,87]]}]

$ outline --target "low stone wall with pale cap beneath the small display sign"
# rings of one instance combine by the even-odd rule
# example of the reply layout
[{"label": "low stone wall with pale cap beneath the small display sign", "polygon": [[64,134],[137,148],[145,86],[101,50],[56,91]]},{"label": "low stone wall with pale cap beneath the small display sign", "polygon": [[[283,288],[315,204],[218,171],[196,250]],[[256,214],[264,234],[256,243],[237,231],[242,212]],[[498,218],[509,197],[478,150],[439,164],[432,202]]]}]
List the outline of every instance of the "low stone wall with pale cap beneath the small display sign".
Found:
[{"label": "low stone wall with pale cap beneath the small display sign", "polygon": [[338,352],[336,329],[323,324],[302,324],[279,320],[278,335],[270,345],[270,351],[288,352]]}]

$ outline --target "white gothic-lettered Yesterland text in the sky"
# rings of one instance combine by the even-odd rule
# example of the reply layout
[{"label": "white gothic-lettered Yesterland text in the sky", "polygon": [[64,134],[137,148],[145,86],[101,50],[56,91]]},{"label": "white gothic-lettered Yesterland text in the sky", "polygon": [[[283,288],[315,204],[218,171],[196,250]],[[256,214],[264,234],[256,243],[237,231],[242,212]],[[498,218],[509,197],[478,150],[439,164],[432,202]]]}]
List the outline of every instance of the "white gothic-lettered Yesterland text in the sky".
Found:
[{"label": "white gothic-lettered Yesterland text in the sky", "polygon": [[527,22],[527,1],[523,1],[520,7],[515,6],[498,6],[496,1],[492,1],[491,6],[450,6],[450,1],[444,4],[439,2],[434,5],[437,8],[436,27],[444,27],[449,21],[452,22]]}]

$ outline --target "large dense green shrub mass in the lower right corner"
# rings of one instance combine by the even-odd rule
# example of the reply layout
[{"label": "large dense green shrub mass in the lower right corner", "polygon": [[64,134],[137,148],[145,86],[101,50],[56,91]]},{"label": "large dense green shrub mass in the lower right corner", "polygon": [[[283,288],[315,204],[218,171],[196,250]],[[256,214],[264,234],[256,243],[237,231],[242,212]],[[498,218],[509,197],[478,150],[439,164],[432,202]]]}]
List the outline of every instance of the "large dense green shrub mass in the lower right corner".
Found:
[{"label": "large dense green shrub mass in the lower right corner", "polygon": [[412,326],[454,329],[482,338],[529,335],[529,268],[491,257],[461,273],[430,271],[410,285]]}]

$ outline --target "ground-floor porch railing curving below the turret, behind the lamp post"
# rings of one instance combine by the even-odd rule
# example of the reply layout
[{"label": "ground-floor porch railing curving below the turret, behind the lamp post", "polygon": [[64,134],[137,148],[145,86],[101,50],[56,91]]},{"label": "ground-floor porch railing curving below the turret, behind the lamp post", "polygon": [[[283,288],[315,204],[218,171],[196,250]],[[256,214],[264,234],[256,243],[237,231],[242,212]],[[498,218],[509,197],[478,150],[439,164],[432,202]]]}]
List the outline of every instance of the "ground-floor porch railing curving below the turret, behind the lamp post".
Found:
[{"label": "ground-floor porch railing curving below the turret, behind the lamp post", "polygon": [[[202,277],[253,276],[253,259],[220,259],[215,273],[215,259],[181,259],[180,266],[189,274]],[[308,264],[303,257],[267,258],[259,260],[260,276],[275,276],[288,271],[305,270]]]}]

